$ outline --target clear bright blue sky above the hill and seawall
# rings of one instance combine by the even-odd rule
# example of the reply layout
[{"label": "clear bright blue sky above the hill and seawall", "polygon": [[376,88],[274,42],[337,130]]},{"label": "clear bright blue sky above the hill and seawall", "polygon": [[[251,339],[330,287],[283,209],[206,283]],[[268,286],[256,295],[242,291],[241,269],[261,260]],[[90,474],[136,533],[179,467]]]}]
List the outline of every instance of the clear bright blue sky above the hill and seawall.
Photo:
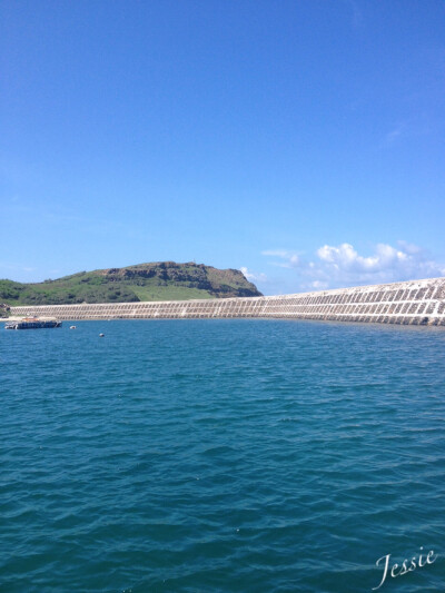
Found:
[{"label": "clear bright blue sky above the hill and seawall", "polygon": [[443,0],[0,1],[0,277],[445,275]]}]

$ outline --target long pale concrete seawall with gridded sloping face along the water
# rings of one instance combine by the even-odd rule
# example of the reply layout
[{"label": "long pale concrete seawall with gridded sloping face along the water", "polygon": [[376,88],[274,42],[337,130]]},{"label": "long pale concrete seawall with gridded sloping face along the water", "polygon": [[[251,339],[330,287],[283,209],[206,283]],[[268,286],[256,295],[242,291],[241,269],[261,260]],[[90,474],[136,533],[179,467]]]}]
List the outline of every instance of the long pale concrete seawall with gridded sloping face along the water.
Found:
[{"label": "long pale concrete seawall with gridded sloping face along the water", "polygon": [[58,319],[266,317],[445,326],[445,278],[296,295],[11,307],[13,316]]}]

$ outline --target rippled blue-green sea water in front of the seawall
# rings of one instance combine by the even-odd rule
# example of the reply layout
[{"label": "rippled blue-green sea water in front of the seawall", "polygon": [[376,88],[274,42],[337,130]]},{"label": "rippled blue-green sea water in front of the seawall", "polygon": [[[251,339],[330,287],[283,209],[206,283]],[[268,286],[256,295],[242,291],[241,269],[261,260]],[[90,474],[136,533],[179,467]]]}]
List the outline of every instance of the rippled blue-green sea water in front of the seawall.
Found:
[{"label": "rippled blue-green sea water in front of the seawall", "polygon": [[69,325],[0,332],[1,591],[370,592],[432,550],[378,591],[445,591],[444,329]]}]

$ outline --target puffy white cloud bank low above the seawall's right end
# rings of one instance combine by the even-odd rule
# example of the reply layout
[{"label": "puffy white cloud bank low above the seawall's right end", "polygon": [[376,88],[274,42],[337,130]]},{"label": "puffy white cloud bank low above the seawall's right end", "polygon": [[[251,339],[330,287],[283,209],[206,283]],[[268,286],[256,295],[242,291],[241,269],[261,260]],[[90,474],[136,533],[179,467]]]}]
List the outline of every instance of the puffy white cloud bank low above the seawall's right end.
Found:
[{"label": "puffy white cloud bank low above the seawall's right end", "polygon": [[397,247],[378,244],[374,253],[367,256],[358,254],[348,243],[338,246],[324,245],[317,249],[317,257],[310,261],[305,261],[288,250],[264,254],[281,259],[278,264],[273,261],[274,265],[296,268],[301,289],[445,276],[445,265],[437,264],[424,249],[406,241],[398,241]]}]

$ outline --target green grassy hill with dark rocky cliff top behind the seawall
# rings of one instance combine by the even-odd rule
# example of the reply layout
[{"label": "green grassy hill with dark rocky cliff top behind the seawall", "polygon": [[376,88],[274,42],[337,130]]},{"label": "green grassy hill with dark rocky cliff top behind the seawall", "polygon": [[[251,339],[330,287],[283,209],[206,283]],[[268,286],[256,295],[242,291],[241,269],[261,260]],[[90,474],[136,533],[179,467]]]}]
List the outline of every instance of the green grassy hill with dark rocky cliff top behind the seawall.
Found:
[{"label": "green grassy hill with dark rocky cliff top behind the seawall", "polygon": [[0,280],[0,303],[10,306],[188,300],[260,295],[256,286],[239,270],[175,261],[80,271],[37,284]]}]

